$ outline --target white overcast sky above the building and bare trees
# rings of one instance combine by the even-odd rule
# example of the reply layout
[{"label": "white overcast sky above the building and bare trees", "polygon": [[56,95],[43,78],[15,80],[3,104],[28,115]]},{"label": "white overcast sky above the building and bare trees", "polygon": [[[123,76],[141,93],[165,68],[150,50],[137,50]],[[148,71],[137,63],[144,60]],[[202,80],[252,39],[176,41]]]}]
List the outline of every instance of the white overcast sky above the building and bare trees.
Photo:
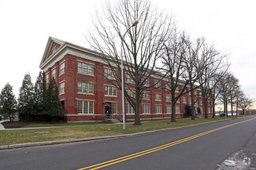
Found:
[{"label": "white overcast sky above the building and bare trees", "polygon": [[[111,0],[110,2],[112,2]],[[228,54],[243,91],[256,99],[256,2],[254,0],[152,0],[172,14],[191,38],[204,36]],[[0,1],[0,90],[9,82],[18,97],[24,74],[35,82],[49,36],[90,46],[85,36],[105,0]]]}]

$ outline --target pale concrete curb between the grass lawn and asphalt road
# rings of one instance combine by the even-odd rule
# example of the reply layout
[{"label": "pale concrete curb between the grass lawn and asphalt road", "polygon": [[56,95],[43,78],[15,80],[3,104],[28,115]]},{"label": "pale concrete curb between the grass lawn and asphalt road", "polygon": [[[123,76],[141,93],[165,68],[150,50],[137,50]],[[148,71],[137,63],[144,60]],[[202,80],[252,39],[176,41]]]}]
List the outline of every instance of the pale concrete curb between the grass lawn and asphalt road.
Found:
[{"label": "pale concrete curb between the grass lawn and asphalt road", "polygon": [[[220,121],[229,121],[232,119],[236,119],[236,118],[229,118],[229,119],[224,119]],[[214,123],[214,122],[219,122],[219,121],[210,121],[210,122],[205,122],[205,123],[196,124],[196,125],[205,125],[205,124]],[[177,128],[187,128],[187,127],[196,126],[196,125],[187,125],[187,126],[181,126]],[[63,143],[77,143],[77,142],[86,142],[86,141],[92,141],[92,140],[95,141],[95,140],[101,140],[101,139],[115,139],[115,138],[129,137],[129,136],[140,136],[147,133],[161,132],[161,131],[172,130],[172,129],[176,129],[176,128],[163,128],[163,129],[152,130],[147,132],[138,132],[138,133],[132,133],[128,135],[118,135],[118,136],[99,136],[99,137],[82,138],[82,139],[67,139],[67,140],[46,141],[46,142],[39,142],[39,143],[21,143],[21,144],[14,144],[14,145],[4,145],[4,146],[0,146],[0,150],[17,149],[17,148],[31,147],[31,146],[46,146],[46,145],[63,144]]]}]

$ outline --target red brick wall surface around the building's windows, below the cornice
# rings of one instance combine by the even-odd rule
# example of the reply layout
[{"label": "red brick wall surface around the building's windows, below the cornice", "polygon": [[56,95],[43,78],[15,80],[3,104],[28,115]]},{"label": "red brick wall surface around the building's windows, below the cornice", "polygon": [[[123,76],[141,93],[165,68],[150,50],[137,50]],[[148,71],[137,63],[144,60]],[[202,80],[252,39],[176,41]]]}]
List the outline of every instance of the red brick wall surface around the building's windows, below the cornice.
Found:
[{"label": "red brick wall surface around the building's windows, below the cornice", "polygon": [[[95,70],[94,76],[77,74],[77,60],[94,64]],[[59,66],[65,61],[65,74],[59,76]],[[49,73],[49,78],[51,77],[51,69],[56,68],[56,81],[57,84],[61,81],[65,81],[65,94],[60,95],[61,100],[65,100],[65,114],[74,114],[74,116],[67,116],[67,121],[105,121],[105,107],[103,102],[117,102],[117,113],[122,114],[121,108],[121,90],[117,90],[117,97],[104,96],[104,85],[111,85],[109,81],[102,77],[104,74],[103,63],[98,63],[91,60],[82,59],[77,56],[70,54],[65,55],[58,63],[55,63],[53,67],[49,68],[46,73]],[[92,81],[94,82],[94,95],[85,95],[77,93],[77,81]],[[150,78],[150,85],[154,85],[154,78]],[[162,83],[164,87],[164,84]],[[155,93],[161,93],[161,101],[155,101]],[[140,113],[142,113],[142,104],[150,103],[150,113],[151,114],[141,114],[140,118],[143,119],[164,119],[171,118],[171,114],[166,114],[166,104],[171,104],[166,102],[166,94],[170,92],[165,89],[153,89],[150,91],[150,100],[143,100],[140,106]],[[187,97],[187,103],[183,104],[183,99],[180,97],[180,103],[176,103],[176,106],[180,106],[180,113],[183,113],[183,107],[189,104],[190,96],[188,94],[184,95]],[[77,99],[92,99],[95,102],[94,114],[91,115],[78,115],[77,114]],[[126,100],[126,102],[128,102]],[[155,114],[155,105],[161,104],[162,114]],[[202,105],[199,104],[202,108]],[[203,111],[203,110],[202,110]],[[177,118],[183,117],[183,114],[176,114]],[[134,115],[126,115],[127,120],[133,120]]]}]

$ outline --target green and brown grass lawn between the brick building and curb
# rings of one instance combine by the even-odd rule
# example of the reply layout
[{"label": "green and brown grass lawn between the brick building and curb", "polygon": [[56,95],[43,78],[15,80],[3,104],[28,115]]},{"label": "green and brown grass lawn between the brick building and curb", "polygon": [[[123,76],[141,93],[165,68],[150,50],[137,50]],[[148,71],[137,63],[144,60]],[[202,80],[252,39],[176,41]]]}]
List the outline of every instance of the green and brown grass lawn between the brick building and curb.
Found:
[{"label": "green and brown grass lawn between the brick building and curb", "polygon": [[[228,118],[237,118],[228,117]],[[146,132],[161,128],[176,128],[186,125],[195,125],[209,121],[219,121],[226,118],[196,118],[191,121],[190,118],[176,119],[176,123],[171,123],[169,119],[142,121],[143,125],[135,126],[131,124],[126,125],[126,130],[122,130],[122,125],[119,124],[96,124],[96,123],[65,123],[58,125],[29,125],[27,127],[46,127],[46,126],[68,126],[56,128],[37,128],[37,129],[17,129],[17,130],[2,130],[0,131],[0,146],[12,145],[19,143],[36,143],[43,141],[54,141],[62,139],[80,139],[95,136],[115,136],[124,135],[135,132]],[[80,126],[77,126],[80,125]]]}]

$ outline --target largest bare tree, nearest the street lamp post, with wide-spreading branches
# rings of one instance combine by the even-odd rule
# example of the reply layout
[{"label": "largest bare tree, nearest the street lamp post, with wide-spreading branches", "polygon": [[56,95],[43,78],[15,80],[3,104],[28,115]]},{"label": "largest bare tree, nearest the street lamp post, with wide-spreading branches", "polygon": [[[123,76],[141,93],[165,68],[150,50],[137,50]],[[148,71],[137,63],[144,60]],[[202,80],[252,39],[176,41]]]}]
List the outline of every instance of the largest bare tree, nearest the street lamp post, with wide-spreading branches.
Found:
[{"label": "largest bare tree, nearest the street lamp post, with wide-spreading branches", "polygon": [[124,56],[124,94],[135,110],[135,125],[141,125],[142,93],[154,86],[148,85],[150,76],[160,72],[157,60],[173,31],[173,20],[152,9],[147,1],[121,0],[113,6],[107,3],[103,11],[104,19],[98,14],[94,22],[96,34],[91,34],[88,42],[102,56],[114,78],[102,76],[117,89],[122,89],[121,57]]}]

